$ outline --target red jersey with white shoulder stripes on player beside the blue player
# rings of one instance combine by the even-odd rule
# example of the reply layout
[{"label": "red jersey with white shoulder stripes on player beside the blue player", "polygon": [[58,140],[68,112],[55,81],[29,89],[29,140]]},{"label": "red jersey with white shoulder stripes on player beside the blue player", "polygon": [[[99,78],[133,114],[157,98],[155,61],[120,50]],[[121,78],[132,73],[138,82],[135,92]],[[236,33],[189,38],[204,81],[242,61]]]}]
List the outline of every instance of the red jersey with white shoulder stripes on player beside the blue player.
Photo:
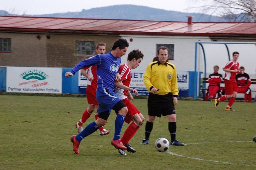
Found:
[{"label": "red jersey with white shoulder stripes on player beside the blue player", "polygon": [[[122,64],[119,67],[119,74],[121,77],[121,80],[119,82],[121,82],[123,85],[128,86],[130,85],[131,82],[131,70],[130,68],[125,64]],[[117,94],[117,96],[119,96],[122,100],[124,98],[127,98],[127,91],[128,90],[124,90],[124,89],[119,89],[117,87],[115,87],[115,93]]]}]

